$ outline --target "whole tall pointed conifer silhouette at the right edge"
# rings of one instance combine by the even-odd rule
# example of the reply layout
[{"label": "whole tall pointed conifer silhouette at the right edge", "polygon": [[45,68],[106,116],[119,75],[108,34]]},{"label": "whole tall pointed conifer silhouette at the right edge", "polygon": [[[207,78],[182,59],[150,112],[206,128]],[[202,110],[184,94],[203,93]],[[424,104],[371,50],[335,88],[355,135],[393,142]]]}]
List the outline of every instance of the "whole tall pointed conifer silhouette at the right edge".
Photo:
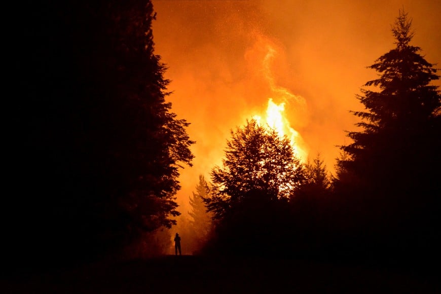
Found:
[{"label": "whole tall pointed conifer silhouette at the right edge", "polygon": [[364,218],[361,223],[376,227],[386,241],[396,234],[405,238],[394,241],[401,243],[396,250],[432,246],[439,230],[433,224],[440,173],[431,167],[440,164],[441,96],[430,85],[439,77],[421,48],[410,45],[411,27],[400,11],[392,26],[396,47],[369,66],[379,78],[357,96],[365,111],[352,113],[361,118],[361,131],[348,132],[353,142],[341,146],[335,185],[336,193],[352,199],[350,209]]}]

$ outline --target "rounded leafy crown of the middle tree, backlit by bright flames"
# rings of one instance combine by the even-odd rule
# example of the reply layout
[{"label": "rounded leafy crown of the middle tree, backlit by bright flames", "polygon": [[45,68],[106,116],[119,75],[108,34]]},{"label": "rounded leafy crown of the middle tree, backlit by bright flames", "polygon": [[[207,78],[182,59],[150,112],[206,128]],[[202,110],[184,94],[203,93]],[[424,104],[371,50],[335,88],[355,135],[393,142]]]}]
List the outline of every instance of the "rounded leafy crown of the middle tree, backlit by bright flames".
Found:
[{"label": "rounded leafy crown of the middle tree, backlit by bright flames", "polygon": [[256,194],[271,201],[287,199],[303,179],[303,165],[288,138],[247,120],[245,126],[231,131],[223,167],[211,170],[212,187],[205,202],[215,218],[222,218]]}]

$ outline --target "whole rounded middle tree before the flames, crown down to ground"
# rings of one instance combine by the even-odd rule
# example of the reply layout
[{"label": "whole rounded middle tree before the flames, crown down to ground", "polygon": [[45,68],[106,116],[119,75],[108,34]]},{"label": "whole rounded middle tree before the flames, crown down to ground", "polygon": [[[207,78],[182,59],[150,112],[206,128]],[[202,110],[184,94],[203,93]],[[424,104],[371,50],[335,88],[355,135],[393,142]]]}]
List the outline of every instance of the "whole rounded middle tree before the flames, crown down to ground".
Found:
[{"label": "whole rounded middle tree before the flames, crown down to ground", "polygon": [[215,220],[215,234],[205,250],[281,254],[289,234],[288,201],[303,181],[304,167],[286,136],[255,120],[231,131],[223,166],[211,170],[210,193],[204,199]]}]

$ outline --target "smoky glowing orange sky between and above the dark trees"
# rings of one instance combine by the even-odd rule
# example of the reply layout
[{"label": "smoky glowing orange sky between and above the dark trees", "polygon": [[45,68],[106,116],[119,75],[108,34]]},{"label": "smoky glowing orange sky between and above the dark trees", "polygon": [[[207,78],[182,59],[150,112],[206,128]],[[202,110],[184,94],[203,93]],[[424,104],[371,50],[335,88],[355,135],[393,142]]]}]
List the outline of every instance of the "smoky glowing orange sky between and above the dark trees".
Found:
[{"label": "smoky glowing orange sky between and above the dark trees", "polygon": [[[413,19],[413,45],[441,61],[441,0],[311,1],[153,0],[155,53],[168,65],[168,97],[191,123],[194,166],[181,170],[178,210],[187,214],[198,175],[224,156],[230,130],[265,113],[269,98],[285,102],[285,117],[314,157],[333,171],[344,130],[358,120],[366,69],[394,47],[390,25],[402,7]],[[268,56],[271,54],[271,56]],[[438,72],[438,74],[441,72]],[[439,81],[435,83],[441,85]],[[283,92],[289,93],[285,95]]]}]

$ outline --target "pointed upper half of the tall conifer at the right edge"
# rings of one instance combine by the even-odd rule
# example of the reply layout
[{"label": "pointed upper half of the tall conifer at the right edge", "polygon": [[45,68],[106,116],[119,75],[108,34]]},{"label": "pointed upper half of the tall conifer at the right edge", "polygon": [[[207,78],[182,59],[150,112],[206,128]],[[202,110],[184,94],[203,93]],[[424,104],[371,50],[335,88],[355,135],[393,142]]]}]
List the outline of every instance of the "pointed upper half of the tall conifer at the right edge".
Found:
[{"label": "pointed upper half of the tall conifer at the right edge", "polygon": [[362,89],[357,99],[366,111],[352,112],[364,120],[358,126],[366,131],[377,132],[398,125],[410,130],[412,125],[436,116],[436,109],[441,106],[437,87],[429,85],[439,79],[436,68],[419,54],[420,47],[410,45],[414,36],[412,20],[404,11],[399,11],[392,34],[396,48],[368,66],[379,72],[379,78],[364,86],[374,86],[380,91]]}]

